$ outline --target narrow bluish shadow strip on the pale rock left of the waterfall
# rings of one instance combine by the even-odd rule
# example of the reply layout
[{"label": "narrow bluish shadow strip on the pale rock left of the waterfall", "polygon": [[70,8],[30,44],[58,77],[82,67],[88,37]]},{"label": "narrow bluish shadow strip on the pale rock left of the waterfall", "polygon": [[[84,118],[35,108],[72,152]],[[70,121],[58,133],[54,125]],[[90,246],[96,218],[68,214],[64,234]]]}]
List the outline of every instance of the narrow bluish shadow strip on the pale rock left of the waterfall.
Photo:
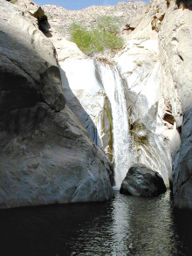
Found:
[{"label": "narrow bluish shadow strip on the pale rock left of the waterfall", "polygon": [[[101,146],[97,127],[93,123],[90,115],[86,112],[84,107],[82,107],[78,98],[75,96],[74,93],[72,93],[72,89],[69,85],[69,81],[66,77],[65,71],[62,68],[60,68],[60,73],[61,73],[61,77],[62,77],[63,92],[65,95],[67,105],[71,108],[72,112],[76,116],[78,116],[79,121],[81,122],[83,127],[86,128],[88,134],[92,137],[93,142],[97,146]],[[90,81],[90,83],[91,83],[91,81]]]}]

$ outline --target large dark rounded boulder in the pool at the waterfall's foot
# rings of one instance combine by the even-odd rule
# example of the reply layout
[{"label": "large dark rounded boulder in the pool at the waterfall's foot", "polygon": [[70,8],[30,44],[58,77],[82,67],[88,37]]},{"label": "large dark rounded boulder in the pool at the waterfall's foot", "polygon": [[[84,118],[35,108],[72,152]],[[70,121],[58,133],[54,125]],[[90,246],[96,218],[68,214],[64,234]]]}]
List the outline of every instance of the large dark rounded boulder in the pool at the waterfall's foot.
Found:
[{"label": "large dark rounded boulder in the pool at the waterfall's foot", "polygon": [[142,163],[135,163],[123,180],[120,193],[135,197],[155,197],[166,191],[160,174]]}]

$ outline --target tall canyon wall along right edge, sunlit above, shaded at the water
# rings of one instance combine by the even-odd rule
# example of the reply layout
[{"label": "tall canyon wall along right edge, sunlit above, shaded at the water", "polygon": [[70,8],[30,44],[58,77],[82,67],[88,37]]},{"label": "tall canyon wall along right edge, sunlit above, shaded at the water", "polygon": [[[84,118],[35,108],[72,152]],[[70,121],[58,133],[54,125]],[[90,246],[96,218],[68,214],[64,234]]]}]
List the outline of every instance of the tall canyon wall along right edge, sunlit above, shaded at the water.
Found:
[{"label": "tall canyon wall along right edge, sunlit above, shaded at the water", "polygon": [[161,88],[181,137],[172,140],[175,206],[192,209],[192,10],[191,1],[180,2],[171,1],[159,32]]}]

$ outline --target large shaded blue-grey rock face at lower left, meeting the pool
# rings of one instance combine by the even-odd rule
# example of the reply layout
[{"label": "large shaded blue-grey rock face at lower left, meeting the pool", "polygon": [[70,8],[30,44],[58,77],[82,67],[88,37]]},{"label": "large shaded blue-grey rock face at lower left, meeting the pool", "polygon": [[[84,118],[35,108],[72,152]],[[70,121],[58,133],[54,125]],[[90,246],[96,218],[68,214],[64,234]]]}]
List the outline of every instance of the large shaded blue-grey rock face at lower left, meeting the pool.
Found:
[{"label": "large shaded blue-grey rock face at lower left, meeting the pool", "polygon": [[0,124],[1,208],[113,197],[110,165],[68,107],[56,114],[38,103]]}]

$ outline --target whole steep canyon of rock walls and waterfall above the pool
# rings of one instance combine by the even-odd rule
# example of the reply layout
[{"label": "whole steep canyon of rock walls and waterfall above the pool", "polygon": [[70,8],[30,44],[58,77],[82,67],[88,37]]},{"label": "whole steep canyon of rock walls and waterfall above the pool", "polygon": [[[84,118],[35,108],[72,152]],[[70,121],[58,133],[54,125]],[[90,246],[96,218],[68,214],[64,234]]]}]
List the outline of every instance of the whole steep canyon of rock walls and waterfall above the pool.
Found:
[{"label": "whole steep canyon of rock walls and waterfall above the pool", "polygon": [[[0,0],[0,208],[108,200],[143,163],[192,209],[191,7]],[[69,26],[100,14],[125,45],[87,56]]]}]

